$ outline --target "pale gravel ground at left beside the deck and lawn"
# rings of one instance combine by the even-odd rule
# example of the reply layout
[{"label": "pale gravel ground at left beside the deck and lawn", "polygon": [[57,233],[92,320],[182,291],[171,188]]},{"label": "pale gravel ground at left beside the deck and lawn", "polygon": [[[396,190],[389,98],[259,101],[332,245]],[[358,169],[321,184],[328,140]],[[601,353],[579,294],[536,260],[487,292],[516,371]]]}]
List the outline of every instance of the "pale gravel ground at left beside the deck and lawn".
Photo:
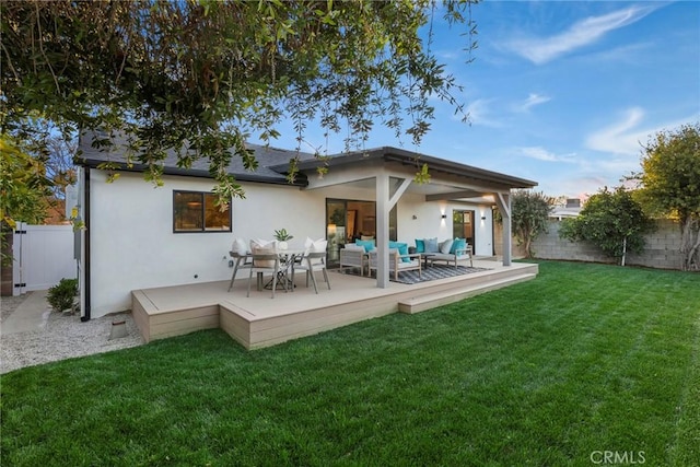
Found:
[{"label": "pale gravel ground at left beside the deck and lawn", "polygon": [[[4,322],[27,296],[2,297],[1,320]],[[118,320],[126,322],[127,336],[110,340],[112,323]],[[130,313],[102,316],[85,323],[80,320],[80,316],[51,313],[40,330],[3,335],[0,338],[0,374],[142,343],[143,339]]]}]

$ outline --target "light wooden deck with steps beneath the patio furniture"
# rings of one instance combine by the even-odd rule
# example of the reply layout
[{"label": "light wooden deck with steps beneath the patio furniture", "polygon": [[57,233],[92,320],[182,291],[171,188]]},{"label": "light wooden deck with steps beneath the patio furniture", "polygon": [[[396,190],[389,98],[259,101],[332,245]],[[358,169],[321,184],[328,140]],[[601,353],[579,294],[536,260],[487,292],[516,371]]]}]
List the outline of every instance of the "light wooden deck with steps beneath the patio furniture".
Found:
[{"label": "light wooden deck with steps beneath the patio furniture", "polygon": [[319,281],[318,294],[313,285],[305,287],[303,275],[298,275],[294,291],[278,290],[273,300],[269,290],[256,290],[255,279],[246,297],[244,270],[231,292],[229,281],[135,290],[131,310],[147,342],[221,327],[246,349],[257,349],[389,313],[427,311],[534,279],[538,273],[537,265],[474,262],[489,270],[412,285],[390,282],[386,289],[378,289],[375,279],[330,270],[331,290]]}]

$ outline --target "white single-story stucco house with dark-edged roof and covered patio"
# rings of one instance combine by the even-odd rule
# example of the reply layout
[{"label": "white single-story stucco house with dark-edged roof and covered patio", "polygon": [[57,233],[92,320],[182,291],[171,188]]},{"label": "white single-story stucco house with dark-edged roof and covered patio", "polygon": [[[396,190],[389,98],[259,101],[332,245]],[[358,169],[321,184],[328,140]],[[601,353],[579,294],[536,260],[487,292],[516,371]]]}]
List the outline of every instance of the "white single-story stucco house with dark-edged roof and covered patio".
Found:
[{"label": "white single-story stucco house with dark-edged roof and covered patio", "polygon": [[[234,157],[230,172],[245,189],[220,212],[213,206],[208,162],[191,168],[164,161],[163,185],[154,187],[127,166],[120,145],[109,151],[80,140],[80,214],[84,222],[81,260],[83,319],[129,310],[130,292],[143,288],[228,280],[234,238],[272,238],[285,229],[294,240],[327,238],[330,266],[340,246],[360,235],[376,237],[380,254],[389,240],[467,237],[477,256],[492,256],[492,209],[503,212],[503,264],[510,265],[510,198],[535,182],[420,155],[430,183],[413,182],[417,154],[396,148],[342,153],[320,161],[299,154],[300,176],[285,172],[296,151],[249,144],[259,163],[247,172]],[[109,162],[110,168],[104,168]],[[323,177],[316,168],[326,164]],[[109,173],[118,173],[114,183]],[[383,255],[387,256],[387,255]],[[382,257],[382,255],[381,255]],[[388,258],[380,264],[376,287],[388,284]]]}]

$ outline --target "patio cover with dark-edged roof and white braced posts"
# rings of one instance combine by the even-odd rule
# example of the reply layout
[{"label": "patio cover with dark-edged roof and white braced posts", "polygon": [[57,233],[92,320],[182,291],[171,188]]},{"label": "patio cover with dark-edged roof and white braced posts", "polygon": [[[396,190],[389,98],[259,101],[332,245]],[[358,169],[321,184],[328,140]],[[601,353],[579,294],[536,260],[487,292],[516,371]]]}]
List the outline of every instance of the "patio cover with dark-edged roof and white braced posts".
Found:
[{"label": "patio cover with dark-edged roof and white braced posts", "polygon": [[[284,173],[288,165],[271,168]],[[328,160],[308,159],[299,162],[298,168],[305,178],[304,190],[343,187],[368,192],[376,201],[375,238],[378,264],[375,284],[380,289],[389,287],[389,241],[411,238],[407,236],[406,230],[400,230],[399,238],[392,238],[389,233],[390,211],[405,195],[422,198],[424,206],[436,206],[443,220],[441,227],[446,226],[447,205],[489,205],[498,208],[503,226],[501,262],[503,267],[510,267],[511,190],[537,185],[534,180],[389,147],[345,153]],[[328,173],[318,175],[319,168],[322,173],[327,168]],[[416,220],[417,215],[412,219]],[[482,214],[481,220],[486,219]],[[327,230],[328,227],[326,225]],[[472,245],[472,248],[474,254],[479,255],[478,245]]]}]

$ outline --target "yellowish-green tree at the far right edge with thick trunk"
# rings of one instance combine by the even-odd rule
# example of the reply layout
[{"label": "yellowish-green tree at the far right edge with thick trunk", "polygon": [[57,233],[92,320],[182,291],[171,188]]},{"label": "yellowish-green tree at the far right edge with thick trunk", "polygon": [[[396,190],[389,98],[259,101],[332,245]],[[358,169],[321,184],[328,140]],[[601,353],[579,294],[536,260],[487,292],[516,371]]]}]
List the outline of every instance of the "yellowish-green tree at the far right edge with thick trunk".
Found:
[{"label": "yellowish-green tree at the far right edge with thick trunk", "polygon": [[641,202],[679,221],[681,269],[700,270],[700,122],[656,133],[641,165]]}]

